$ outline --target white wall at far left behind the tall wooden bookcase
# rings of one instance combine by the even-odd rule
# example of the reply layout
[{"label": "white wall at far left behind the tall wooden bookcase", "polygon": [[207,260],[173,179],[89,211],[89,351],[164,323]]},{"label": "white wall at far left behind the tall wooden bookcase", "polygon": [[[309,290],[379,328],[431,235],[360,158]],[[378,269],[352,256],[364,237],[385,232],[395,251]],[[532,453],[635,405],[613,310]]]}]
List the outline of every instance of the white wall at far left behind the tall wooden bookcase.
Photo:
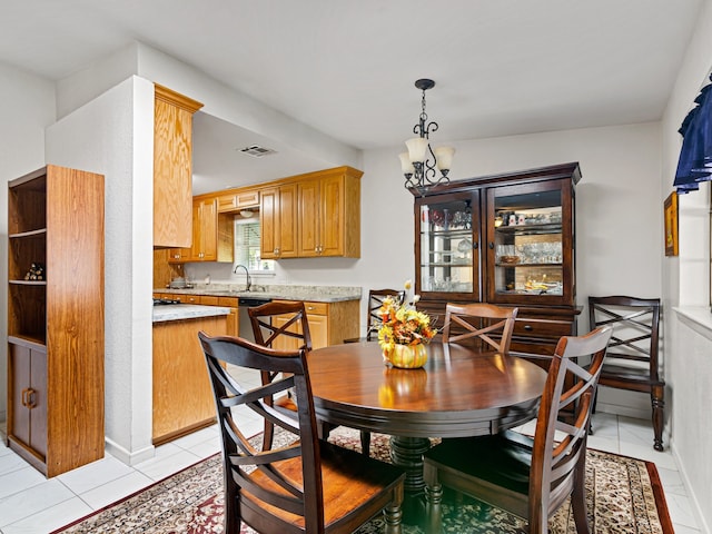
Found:
[{"label": "white wall at far left behind the tall wooden bookcase", "polygon": [[[8,180],[44,166],[44,128],[55,121],[53,83],[0,62],[0,279],[8,279]],[[7,284],[0,284],[0,339],[7,338]],[[7,407],[7,344],[0,344],[0,421]]]}]

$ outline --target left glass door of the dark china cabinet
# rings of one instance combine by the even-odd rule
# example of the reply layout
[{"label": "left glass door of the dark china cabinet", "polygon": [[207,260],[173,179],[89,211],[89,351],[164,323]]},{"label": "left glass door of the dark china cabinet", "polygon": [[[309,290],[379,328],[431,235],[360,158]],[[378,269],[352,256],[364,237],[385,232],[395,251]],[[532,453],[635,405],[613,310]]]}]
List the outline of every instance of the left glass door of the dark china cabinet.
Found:
[{"label": "left glass door of the dark china cabinet", "polygon": [[477,195],[439,195],[419,200],[419,293],[474,294],[478,299]]}]

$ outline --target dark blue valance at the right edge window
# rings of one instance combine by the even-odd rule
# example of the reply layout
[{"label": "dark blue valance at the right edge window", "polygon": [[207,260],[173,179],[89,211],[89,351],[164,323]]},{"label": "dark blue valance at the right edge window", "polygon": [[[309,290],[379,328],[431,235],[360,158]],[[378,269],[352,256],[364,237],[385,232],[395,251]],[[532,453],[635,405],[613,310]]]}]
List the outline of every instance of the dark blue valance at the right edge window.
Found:
[{"label": "dark blue valance at the right edge window", "polygon": [[696,191],[701,181],[712,180],[712,83],[703,87],[694,101],[695,107],[678,130],[682,150],[673,186],[679,195]]}]

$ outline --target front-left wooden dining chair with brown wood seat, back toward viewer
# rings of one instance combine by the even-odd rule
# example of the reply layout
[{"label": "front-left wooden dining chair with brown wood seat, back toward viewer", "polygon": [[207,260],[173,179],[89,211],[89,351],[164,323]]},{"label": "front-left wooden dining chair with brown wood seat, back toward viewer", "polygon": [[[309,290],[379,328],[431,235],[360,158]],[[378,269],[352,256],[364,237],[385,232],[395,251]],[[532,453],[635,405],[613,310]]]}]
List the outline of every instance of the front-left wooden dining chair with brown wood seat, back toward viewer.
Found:
[{"label": "front-left wooden dining chair with brown wood seat, back toward viewer", "polygon": [[[383,511],[385,532],[400,533],[404,473],[318,438],[307,350],[274,350],[237,337],[198,337],[215,394],[222,439],[226,534],[240,522],[261,534],[348,533]],[[253,387],[235,370],[256,369],[273,377]],[[265,399],[293,389],[296,417]],[[234,417],[248,408],[279,427],[276,444],[255,445]]]}]

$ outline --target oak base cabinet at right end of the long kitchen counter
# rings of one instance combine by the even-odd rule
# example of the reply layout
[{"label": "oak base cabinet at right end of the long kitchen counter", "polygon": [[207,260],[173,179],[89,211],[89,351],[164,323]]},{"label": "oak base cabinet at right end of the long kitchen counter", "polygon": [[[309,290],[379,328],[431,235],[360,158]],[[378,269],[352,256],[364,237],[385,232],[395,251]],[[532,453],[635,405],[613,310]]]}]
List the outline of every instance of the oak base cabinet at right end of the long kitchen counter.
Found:
[{"label": "oak base cabinet at right end of the long kitchen counter", "polygon": [[[340,345],[344,339],[358,337],[359,332],[359,300],[343,300],[336,303],[305,301],[309,335],[313,348],[323,348],[330,345]],[[278,316],[273,319],[281,326],[288,320]],[[295,332],[299,332],[300,325],[295,325]],[[275,344],[275,348],[294,350],[297,348],[295,339],[281,338]]]}]

